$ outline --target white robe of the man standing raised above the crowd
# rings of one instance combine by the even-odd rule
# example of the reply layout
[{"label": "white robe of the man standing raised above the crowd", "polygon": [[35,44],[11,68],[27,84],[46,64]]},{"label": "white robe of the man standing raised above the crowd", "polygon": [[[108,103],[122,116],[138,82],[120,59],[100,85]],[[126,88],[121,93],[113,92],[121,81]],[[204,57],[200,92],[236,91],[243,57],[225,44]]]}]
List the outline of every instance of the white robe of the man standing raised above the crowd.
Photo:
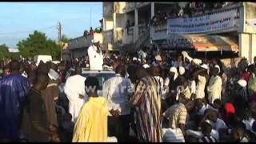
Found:
[{"label": "white robe of the man standing raised above the crowd", "polygon": [[97,53],[96,46],[90,46],[87,50],[89,55],[90,70],[102,70],[103,69],[103,55],[102,51]]}]

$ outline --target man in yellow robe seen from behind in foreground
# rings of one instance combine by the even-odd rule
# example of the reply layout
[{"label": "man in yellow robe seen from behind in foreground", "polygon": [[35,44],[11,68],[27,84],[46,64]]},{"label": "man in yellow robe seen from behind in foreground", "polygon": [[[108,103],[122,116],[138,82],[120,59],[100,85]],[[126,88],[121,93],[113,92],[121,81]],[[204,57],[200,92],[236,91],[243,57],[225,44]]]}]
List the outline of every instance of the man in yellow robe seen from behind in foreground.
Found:
[{"label": "man in yellow robe seen from behind in foreground", "polygon": [[80,110],[74,126],[72,142],[107,142],[107,116],[109,111],[106,99],[99,97],[98,79],[88,77],[85,81],[89,101]]}]

